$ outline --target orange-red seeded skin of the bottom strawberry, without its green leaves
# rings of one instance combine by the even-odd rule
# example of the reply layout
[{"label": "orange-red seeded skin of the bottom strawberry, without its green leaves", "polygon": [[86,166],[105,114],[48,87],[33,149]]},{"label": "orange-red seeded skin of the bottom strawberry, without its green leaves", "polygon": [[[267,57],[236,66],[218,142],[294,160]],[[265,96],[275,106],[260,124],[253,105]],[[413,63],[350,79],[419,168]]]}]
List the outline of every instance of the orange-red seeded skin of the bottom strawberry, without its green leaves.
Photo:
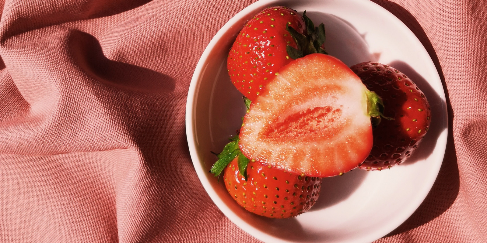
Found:
[{"label": "orange-red seeded skin of the bottom strawberry, without its green leaves", "polygon": [[225,168],[225,187],[246,210],[269,218],[297,216],[318,199],[321,180],[284,172],[252,160],[247,180],[239,173],[237,158]]}]

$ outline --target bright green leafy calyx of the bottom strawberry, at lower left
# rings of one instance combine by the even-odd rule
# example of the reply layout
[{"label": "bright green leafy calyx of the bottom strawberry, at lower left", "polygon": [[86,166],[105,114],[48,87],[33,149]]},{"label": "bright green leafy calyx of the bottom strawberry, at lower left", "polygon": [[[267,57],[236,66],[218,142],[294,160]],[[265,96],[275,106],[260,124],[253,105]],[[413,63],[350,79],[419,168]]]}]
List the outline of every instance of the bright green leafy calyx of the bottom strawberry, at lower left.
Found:
[{"label": "bright green leafy calyx of the bottom strawberry, at lower left", "polygon": [[[248,109],[250,109],[251,101],[244,96],[244,103],[248,111]],[[210,173],[213,173],[215,177],[222,174],[223,170],[225,170],[225,167],[235,158],[237,158],[239,173],[244,176],[245,180],[247,180],[247,165],[249,159],[244,156],[244,154],[242,154],[242,151],[240,151],[239,141],[240,138],[238,134],[233,136],[232,138],[230,138],[230,142],[225,145],[223,151],[220,154],[216,154],[218,160],[213,164],[210,169]]]}]

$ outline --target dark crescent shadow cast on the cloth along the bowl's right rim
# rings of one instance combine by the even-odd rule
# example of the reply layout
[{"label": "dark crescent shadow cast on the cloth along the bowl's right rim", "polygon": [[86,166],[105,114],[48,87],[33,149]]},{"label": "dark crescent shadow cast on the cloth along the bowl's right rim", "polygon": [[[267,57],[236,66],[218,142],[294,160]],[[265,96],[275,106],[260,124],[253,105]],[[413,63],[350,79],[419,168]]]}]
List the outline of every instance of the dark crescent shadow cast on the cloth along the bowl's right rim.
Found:
[{"label": "dark crescent shadow cast on the cloth along the bowl's right rim", "polygon": [[[419,22],[416,20],[416,18],[412,16],[412,14],[409,13],[406,9],[394,2],[388,0],[372,1],[387,9],[394,16],[399,18],[404,24],[406,24],[406,26],[408,26],[408,28],[414,33],[414,35],[418,37],[421,44],[423,44],[423,46],[426,48],[426,51],[430,54],[431,59],[433,60],[436,69],[438,70],[438,74],[440,75],[443,84],[443,89],[447,91],[445,78],[443,76],[443,71],[441,69],[436,52],[434,51],[434,48],[431,45],[428,36],[424,32]],[[419,208],[411,215],[411,217],[409,217],[408,220],[406,220],[402,225],[394,229],[385,237],[397,235],[430,222],[431,220],[435,219],[436,217],[443,214],[446,210],[448,210],[448,208],[450,208],[450,206],[453,204],[458,196],[458,191],[460,190],[460,175],[458,173],[458,163],[456,158],[455,145],[453,142],[453,110],[450,105],[448,91],[445,93],[445,95],[447,99],[449,123],[448,142],[445,157],[443,159],[443,164],[440,168],[440,172],[438,173],[438,177],[436,178],[436,181],[433,184],[430,193],[425,198],[423,203],[419,206]]]}]

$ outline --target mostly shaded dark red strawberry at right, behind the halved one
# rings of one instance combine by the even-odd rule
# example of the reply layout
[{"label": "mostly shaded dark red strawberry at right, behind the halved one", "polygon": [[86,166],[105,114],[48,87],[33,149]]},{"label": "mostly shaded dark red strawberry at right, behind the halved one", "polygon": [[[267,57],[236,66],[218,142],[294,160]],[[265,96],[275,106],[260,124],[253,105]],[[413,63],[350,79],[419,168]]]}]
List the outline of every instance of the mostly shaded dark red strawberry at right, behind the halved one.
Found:
[{"label": "mostly shaded dark red strawberry at right, behind the halved one", "polygon": [[380,171],[402,163],[430,127],[428,100],[411,79],[390,66],[363,62],[351,69],[382,98],[384,116],[393,118],[373,127],[374,146],[359,168]]}]

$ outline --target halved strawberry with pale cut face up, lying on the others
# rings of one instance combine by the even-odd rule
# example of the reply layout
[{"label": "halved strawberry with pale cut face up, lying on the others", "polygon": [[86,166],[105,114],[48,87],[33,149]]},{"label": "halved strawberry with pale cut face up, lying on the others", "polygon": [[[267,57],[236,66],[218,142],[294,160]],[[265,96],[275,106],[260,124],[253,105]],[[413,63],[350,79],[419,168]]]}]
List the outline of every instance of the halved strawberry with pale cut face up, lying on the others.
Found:
[{"label": "halved strawberry with pale cut face up, lying on the others", "polygon": [[252,102],[240,130],[249,158],[295,174],[327,177],[356,168],[372,148],[380,103],[335,57],[315,53],[282,69]]}]

